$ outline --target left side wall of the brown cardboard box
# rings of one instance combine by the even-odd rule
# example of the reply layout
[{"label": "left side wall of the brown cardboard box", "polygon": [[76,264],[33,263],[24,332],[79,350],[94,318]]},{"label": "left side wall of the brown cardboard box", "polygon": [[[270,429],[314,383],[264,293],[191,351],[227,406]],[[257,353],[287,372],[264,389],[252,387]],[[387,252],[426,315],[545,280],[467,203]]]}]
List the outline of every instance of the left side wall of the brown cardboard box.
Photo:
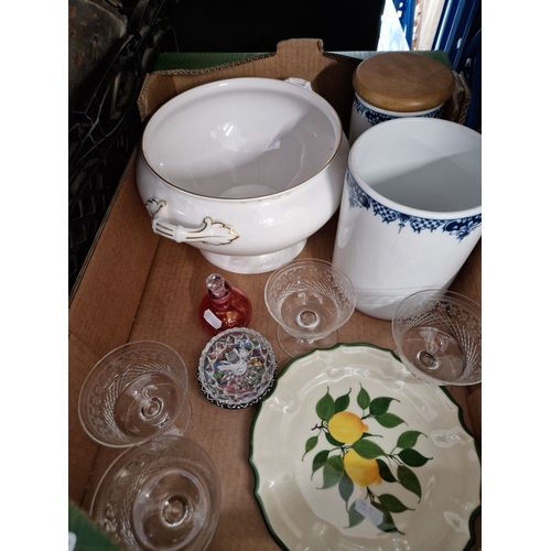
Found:
[{"label": "left side wall of the brown cardboard box", "polygon": [[96,361],[128,341],[160,240],[138,194],[133,162],[132,155],[68,312],[68,482],[77,504],[100,447],[80,426],[78,393]]}]

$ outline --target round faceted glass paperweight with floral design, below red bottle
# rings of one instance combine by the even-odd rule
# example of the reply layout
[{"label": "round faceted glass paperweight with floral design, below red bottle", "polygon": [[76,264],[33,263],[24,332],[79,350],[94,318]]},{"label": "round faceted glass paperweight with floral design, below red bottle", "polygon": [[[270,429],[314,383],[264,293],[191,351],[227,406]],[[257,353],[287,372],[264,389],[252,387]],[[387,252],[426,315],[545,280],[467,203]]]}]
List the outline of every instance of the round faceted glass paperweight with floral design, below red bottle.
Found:
[{"label": "round faceted glass paperweight with floral design, below red bottle", "polygon": [[256,331],[238,327],[213,337],[201,355],[197,379],[216,406],[248,408],[273,386],[278,364],[270,343]]}]

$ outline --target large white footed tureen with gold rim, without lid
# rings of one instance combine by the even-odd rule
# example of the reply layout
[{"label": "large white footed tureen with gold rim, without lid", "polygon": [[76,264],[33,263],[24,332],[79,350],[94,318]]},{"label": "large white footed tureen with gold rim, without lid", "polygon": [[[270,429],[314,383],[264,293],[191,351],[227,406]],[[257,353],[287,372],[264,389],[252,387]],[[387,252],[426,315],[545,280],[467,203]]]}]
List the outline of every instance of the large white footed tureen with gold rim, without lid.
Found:
[{"label": "large white footed tureen with gold rim, without lid", "polygon": [[304,85],[220,80],[153,115],[138,190],[155,233],[260,273],[292,260],[337,210],[348,151],[337,114]]}]

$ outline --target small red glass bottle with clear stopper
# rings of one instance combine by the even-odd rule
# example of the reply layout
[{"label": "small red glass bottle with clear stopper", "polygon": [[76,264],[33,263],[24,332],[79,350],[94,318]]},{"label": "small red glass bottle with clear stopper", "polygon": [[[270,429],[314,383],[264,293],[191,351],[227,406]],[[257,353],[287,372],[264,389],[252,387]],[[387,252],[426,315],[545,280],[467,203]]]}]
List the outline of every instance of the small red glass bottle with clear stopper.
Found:
[{"label": "small red glass bottle with clear stopper", "polygon": [[199,322],[212,335],[231,327],[246,327],[252,315],[249,298],[219,273],[206,279],[207,292],[199,303]]}]

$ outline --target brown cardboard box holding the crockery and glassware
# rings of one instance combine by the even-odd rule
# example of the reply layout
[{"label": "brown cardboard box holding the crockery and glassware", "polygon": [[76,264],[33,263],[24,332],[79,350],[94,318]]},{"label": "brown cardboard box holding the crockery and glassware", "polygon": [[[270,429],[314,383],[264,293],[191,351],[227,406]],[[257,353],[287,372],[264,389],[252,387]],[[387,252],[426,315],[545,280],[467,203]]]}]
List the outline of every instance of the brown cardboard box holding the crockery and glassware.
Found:
[{"label": "brown cardboard box holding the crockery and glassware", "polygon": [[[292,40],[278,45],[273,55],[213,69],[155,73],[144,83],[140,109],[144,119],[174,95],[199,84],[226,77],[302,77],[313,84],[337,110],[343,122],[349,118],[352,74],[359,60],[324,54],[321,41]],[[136,155],[136,153],[134,153]],[[279,549],[271,538],[255,500],[255,477],[248,463],[249,428],[256,407],[226,410],[210,403],[196,383],[201,352],[210,336],[199,325],[196,310],[205,292],[205,279],[219,271],[244,290],[252,302],[249,327],[272,344],[279,369],[289,356],[279,347],[276,322],[263,303],[269,273],[236,274],[209,264],[199,251],[185,244],[153,234],[151,219],[138,195],[134,156],[130,160],[109,214],[83,273],[77,281],[68,315],[68,497],[88,510],[105,469],[121,451],[96,444],[80,426],[78,392],[89,370],[104,355],[123,343],[154,339],[174,347],[190,375],[188,398],[193,418],[187,436],[212,456],[222,480],[222,515],[209,545],[214,551],[262,551]],[[301,257],[332,259],[335,215],[312,236]],[[453,289],[480,301],[480,244],[456,278]],[[339,329],[344,343],[365,342],[395,348],[390,322],[356,311]],[[482,387],[451,389],[463,408],[467,426],[480,439]],[[479,522],[477,523],[478,542]]]}]

